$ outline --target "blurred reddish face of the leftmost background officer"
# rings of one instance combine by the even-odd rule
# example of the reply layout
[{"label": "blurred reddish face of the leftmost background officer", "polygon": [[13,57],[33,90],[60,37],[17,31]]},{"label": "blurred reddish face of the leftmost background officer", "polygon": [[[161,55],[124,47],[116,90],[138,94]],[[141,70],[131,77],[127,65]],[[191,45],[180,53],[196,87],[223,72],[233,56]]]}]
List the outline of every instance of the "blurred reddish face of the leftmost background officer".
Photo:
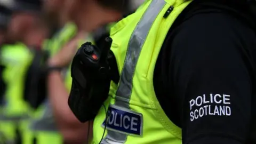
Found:
[{"label": "blurred reddish face of the leftmost background officer", "polygon": [[41,46],[47,33],[46,26],[37,14],[17,12],[12,15],[7,35],[11,42],[23,42],[28,46]]}]

